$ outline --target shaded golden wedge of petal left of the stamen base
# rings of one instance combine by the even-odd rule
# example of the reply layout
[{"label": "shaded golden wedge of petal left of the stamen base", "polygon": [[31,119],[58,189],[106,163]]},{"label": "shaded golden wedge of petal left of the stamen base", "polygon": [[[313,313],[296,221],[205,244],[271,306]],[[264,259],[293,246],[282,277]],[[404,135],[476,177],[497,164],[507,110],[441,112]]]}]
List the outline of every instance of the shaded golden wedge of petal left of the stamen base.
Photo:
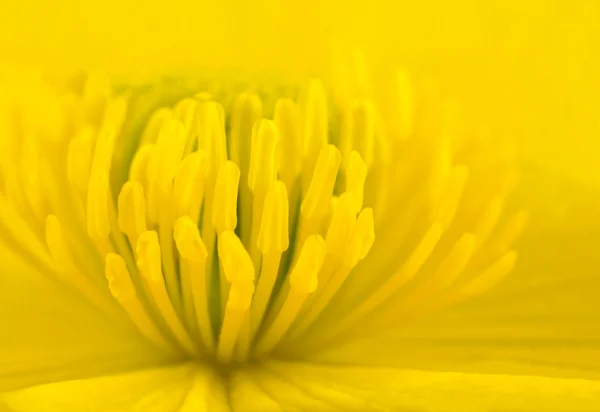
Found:
[{"label": "shaded golden wedge of petal left of the stamen base", "polygon": [[0,244],[0,393],[165,361],[131,325],[100,312]]}]

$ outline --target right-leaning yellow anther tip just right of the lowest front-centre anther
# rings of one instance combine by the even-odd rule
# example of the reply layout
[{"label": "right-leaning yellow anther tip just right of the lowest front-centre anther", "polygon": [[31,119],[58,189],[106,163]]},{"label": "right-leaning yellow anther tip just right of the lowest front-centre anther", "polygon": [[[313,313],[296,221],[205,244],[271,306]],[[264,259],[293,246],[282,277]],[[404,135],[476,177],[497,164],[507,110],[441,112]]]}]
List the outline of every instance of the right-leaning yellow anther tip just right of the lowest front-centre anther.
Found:
[{"label": "right-leaning yellow anther tip just right of the lowest front-centre anther", "polygon": [[317,289],[317,275],[325,259],[325,241],[319,235],[306,238],[296,266],[290,273],[290,286],[301,293],[312,293]]}]

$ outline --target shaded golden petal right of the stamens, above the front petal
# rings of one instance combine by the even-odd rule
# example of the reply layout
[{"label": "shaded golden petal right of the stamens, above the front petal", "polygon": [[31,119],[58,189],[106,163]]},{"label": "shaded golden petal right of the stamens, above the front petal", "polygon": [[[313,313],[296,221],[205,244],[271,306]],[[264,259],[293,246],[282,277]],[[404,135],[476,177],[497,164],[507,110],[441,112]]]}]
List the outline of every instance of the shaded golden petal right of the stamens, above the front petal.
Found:
[{"label": "shaded golden petal right of the stamens, above the front petal", "polygon": [[439,313],[400,313],[395,330],[314,359],[599,379],[600,192],[548,170],[523,179],[517,197],[532,217],[513,273],[470,301]]}]

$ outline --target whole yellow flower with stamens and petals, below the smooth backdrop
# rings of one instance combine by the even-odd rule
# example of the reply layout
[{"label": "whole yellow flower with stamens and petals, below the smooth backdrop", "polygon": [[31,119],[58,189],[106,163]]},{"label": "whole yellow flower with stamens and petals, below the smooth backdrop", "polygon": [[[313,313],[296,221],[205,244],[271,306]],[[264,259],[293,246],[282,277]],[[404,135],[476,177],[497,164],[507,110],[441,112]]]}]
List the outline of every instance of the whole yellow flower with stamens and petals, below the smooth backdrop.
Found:
[{"label": "whole yellow flower with stamens and petals, below the smooth backdrop", "polygon": [[595,410],[596,189],[324,55],[4,71],[0,410]]}]

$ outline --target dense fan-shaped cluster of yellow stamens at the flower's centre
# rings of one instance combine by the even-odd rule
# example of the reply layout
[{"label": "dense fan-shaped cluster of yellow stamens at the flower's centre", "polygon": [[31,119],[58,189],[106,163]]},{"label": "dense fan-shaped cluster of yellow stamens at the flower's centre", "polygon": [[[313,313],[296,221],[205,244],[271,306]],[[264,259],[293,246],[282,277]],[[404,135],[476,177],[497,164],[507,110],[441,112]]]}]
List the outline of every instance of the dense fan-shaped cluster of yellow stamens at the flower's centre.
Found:
[{"label": "dense fan-shaped cluster of yellow stamens at the flower's centre", "polygon": [[272,103],[191,94],[140,116],[138,138],[143,99],[101,80],[53,89],[44,122],[22,121],[30,99],[6,111],[2,234],[165,350],[304,356],[485,292],[515,263],[511,162],[433,130],[403,73],[383,103],[318,80]]}]

